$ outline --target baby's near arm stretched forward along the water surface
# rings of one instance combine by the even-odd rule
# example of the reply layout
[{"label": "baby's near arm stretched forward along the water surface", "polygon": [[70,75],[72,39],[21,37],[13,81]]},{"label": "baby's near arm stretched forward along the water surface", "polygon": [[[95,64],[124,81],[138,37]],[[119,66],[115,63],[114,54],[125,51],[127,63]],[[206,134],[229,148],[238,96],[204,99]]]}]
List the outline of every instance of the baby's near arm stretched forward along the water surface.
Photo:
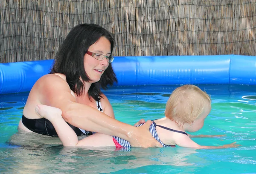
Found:
[{"label": "baby's near arm stretched forward along the water surface", "polygon": [[192,139],[189,138],[187,135],[176,135],[173,137],[175,143],[178,146],[185,147],[185,148],[195,148],[195,149],[220,149],[220,148],[236,148],[240,145],[236,144],[236,142],[233,142],[231,144],[227,145],[221,145],[221,146],[207,146],[207,145],[198,145],[196,142],[194,142]]}]

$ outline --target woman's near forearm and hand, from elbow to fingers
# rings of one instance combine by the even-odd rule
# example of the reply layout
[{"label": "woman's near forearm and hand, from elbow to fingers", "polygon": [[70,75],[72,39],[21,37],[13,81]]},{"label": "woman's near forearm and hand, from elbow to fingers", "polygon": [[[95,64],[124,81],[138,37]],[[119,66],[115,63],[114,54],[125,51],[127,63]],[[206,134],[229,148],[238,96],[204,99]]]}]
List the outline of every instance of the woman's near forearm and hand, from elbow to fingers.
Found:
[{"label": "woman's near forearm and hand, from elbow to fingers", "polygon": [[132,147],[161,147],[160,143],[148,131],[151,121],[146,122],[143,126],[133,127],[119,122],[94,108],[90,109],[90,113],[88,109],[87,113],[84,114],[85,111],[80,109],[82,106],[79,105],[70,103],[67,111],[62,114],[63,118],[71,125],[88,131],[118,136],[129,141]]}]

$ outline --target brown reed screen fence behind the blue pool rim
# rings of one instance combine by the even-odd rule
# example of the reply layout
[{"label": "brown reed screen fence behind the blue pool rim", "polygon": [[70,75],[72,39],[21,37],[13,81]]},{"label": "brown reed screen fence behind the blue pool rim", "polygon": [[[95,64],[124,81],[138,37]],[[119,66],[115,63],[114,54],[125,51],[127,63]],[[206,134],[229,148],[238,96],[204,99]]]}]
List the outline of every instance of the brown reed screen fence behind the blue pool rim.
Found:
[{"label": "brown reed screen fence behind the blue pool rim", "polygon": [[0,63],[53,59],[80,23],[112,32],[113,56],[256,55],[256,0],[1,0]]}]

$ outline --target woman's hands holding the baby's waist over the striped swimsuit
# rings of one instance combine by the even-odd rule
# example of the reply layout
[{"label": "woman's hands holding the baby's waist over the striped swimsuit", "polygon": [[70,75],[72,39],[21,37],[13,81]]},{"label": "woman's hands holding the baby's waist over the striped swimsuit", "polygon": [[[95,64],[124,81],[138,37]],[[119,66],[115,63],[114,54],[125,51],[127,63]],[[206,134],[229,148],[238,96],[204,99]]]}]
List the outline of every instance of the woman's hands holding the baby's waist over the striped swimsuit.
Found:
[{"label": "woman's hands holding the baby's waist over the striped swimsuit", "polygon": [[151,124],[152,124],[152,121],[148,120],[144,125],[139,127],[134,127],[134,131],[128,132],[128,138],[129,138],[128,141],[130,142],[132,147],[143,147],[143,148],[163,147],[149,132],[149,127]]}]

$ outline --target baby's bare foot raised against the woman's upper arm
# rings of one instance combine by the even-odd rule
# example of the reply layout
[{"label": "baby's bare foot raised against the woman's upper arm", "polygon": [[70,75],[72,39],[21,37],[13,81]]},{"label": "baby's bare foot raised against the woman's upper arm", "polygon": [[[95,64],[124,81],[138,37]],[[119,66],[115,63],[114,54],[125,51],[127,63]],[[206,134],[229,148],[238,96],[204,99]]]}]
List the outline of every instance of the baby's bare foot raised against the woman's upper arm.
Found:
[{"label": "baby's bare foot raised against the woman's upper arm", "polygon": [[51,121],[52,119],[59,118],[62,114],[62,111],[57,107],[51,107],[43,104],[38,104],[35,107],[35,112],[38,113],[40,116],[48,119]]}]

